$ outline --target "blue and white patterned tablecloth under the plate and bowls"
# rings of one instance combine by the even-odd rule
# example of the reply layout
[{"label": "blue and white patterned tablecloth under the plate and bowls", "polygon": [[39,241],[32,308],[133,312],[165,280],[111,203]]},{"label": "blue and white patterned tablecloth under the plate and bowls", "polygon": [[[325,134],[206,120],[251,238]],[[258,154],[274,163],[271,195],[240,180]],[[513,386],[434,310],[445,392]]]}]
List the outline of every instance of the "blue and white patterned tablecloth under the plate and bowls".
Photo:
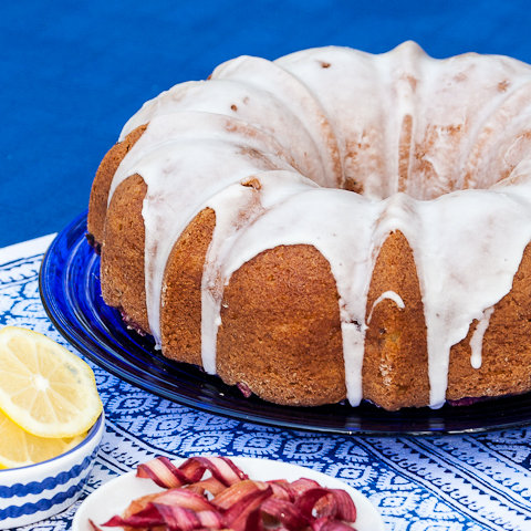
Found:
[{"label": "blue and white patterned tablecloth under the plate and bowls", "polygon": [[[27,326],[69,347],[39,298],[50,241],[0,250],[0,325]],[[290,431],[179,406],[91,366],[107,420],[83,498],[155,455],[215,452],[278,459],[341,478],[368,497],[388,531],[531,530],[531,427],[421,438]],[[80,503],[24,529],[70,529]]]}]

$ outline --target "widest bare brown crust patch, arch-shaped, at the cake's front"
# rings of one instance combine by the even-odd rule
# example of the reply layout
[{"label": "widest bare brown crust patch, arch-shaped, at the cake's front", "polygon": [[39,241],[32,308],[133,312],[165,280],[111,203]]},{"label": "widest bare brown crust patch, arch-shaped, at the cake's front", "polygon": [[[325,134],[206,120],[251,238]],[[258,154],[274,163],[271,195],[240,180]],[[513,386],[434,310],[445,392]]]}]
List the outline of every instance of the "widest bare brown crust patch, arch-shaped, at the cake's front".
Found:
[{"label": "widest bare brown crust patch, arch-shaped, at the cake's front", "polygon": [[345,398],[339,295],[329,262],[312,246],[267,250],[226,287],[217,372],[277,404]]}]

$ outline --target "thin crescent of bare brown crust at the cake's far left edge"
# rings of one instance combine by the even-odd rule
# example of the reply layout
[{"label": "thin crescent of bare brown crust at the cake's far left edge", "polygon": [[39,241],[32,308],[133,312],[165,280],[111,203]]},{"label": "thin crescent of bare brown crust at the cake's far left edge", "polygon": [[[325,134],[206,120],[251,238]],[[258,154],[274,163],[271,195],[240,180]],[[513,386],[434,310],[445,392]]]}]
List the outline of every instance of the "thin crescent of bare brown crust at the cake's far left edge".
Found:
[{"label": "thin crescent of bare brown crust at the cake's far left edge", "polygon": [[108,190],[114,174],[127,152],[136,144],[146,131],[147,125],[142,125],[132,131],[124,142],[115,144],[103,157],[92,183],[91,199],[88,202],[87,229],[95,243],[103,243],[103,227],[107,214]]}]

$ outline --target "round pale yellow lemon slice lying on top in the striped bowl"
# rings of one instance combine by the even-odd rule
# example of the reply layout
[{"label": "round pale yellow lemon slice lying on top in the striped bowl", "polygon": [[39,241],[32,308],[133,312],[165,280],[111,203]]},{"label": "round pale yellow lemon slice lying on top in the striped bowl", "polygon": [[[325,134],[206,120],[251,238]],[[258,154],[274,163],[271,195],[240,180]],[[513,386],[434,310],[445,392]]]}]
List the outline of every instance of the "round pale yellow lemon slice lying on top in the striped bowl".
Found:
[{"label": "round pale yellow lemon slice lying on top in the striped bowl", "polygon": [[0,409],[38,437],[75,437],[102,412],[91,367],[45,335],[0,331]]}]

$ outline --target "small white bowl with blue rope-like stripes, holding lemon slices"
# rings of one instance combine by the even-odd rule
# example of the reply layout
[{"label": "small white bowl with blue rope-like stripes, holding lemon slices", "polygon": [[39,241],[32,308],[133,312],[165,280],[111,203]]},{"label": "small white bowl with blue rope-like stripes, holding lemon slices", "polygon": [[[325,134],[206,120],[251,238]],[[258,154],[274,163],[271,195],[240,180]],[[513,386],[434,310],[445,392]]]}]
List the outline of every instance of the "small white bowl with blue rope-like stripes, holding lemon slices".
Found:
[{"label": "small white bowl with blue rope-like stripes, holding lemon slices", "polygon": [[79,446],[49,461],[0,470],[0,529],[19,528],[64,511],[88,480],[105,430],[102,412]]}]

